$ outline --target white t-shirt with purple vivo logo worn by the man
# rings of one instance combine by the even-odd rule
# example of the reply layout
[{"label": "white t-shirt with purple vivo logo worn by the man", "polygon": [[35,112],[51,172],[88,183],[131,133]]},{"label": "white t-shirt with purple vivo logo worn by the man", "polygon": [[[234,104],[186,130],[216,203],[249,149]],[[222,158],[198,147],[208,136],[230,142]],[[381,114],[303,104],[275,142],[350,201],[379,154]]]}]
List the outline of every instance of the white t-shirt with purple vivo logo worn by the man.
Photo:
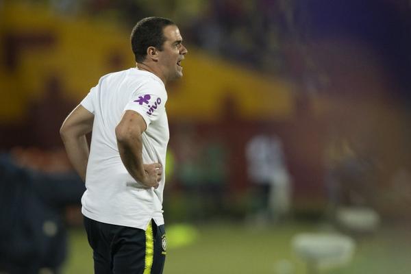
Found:
[{"label": "white t-shirt with purple vivo logo worn by the man", "polygon": [[83,99],[82,106],[95,115],[82,197],[84,216],[140,229],[146,229],[151,219],[164,224],[164,173],[157,189],[136,182],[121,161],[115,128],[125,110],[138,112],[147,124],[142,134],[142,161],[160,162],[164,171],[169,142],[166,101],[161,79],[135,68],[101,77]]}]

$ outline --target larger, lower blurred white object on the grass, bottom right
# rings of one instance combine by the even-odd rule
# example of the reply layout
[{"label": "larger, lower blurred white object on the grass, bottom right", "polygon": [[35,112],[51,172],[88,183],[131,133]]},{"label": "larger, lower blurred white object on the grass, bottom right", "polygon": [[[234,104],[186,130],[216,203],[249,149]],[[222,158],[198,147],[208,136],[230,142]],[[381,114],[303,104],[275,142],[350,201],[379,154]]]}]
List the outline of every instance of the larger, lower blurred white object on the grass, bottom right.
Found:
[{"label": "larger, lower blurred white object on the grass, bottom right", "polygon": [[356,243],[342,234],[301,233],[292,239],[292,248],[307,263],[308,273],[318,273],[349,264]]}]

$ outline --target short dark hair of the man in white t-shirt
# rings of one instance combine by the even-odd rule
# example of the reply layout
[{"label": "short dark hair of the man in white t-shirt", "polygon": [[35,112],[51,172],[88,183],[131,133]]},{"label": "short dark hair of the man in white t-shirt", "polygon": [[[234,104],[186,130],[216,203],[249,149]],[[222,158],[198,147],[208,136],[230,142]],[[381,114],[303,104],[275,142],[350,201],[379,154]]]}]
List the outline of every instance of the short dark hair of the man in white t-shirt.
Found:
[{"label": "short dark hair of the man in white t-shirt", "polygon": [[147,17],[138,21],[130,37],[136,62],[145,60],[148,47],[155,47],[162,51],[166,40],[163,29],[168,25],[175,25],[175,23],[162,17]]}]

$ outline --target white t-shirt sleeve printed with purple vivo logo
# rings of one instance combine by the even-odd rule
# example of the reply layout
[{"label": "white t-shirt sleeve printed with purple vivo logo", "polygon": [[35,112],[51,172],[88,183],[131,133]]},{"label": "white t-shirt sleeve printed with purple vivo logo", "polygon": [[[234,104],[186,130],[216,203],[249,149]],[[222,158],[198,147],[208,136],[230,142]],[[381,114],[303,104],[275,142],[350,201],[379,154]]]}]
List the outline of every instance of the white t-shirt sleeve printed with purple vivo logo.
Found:
[{"label": "white t-shirt sleeve printed with purple vivo logo", "polygon": [[124,108],[134,110],[144,119],[147,128],[164,114],[167,92],[164,86],[157,82],[143,84],[133,92],[131,100]]}]

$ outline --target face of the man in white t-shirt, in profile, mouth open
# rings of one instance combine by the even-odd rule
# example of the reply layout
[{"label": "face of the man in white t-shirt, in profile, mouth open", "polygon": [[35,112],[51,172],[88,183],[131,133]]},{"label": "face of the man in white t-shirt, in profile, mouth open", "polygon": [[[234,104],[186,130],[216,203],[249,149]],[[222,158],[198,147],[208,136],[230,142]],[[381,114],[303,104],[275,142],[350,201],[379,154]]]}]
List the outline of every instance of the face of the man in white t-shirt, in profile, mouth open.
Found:
[{"label": "face of the man in white t-shirt, in profile, mouth open", "polygon": [[163,50],[159,52],[158,61],[167,80],[178,79],[183,76],[183,67],[180,62],[188,52],[182,44],[183,38],[175,25],[168,25],[163,29],[166,38]]}]

